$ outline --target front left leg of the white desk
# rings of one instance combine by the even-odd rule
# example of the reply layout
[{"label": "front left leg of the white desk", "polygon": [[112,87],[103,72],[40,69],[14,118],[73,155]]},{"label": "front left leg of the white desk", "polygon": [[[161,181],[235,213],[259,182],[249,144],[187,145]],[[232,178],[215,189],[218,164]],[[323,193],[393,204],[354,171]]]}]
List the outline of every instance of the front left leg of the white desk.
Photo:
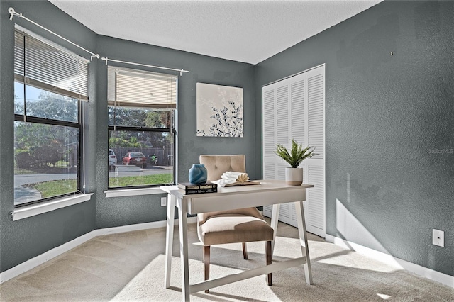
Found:
[{"label": "front left leg of the white desk", "polygon": [[183,301],[189,301],[189,255],[187,247],[187,202],[177,199],[179,219],[179,257],[182,261]]}]

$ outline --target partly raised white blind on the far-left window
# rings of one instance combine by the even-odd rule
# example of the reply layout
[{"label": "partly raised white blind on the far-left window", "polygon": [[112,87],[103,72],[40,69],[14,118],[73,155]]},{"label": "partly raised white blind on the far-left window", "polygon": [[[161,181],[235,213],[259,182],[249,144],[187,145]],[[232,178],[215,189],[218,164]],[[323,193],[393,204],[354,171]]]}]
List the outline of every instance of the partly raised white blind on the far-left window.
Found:
[{"label": "partly raised white blind on the far-left window", "polygon": [[16,81],[88,101],[88,60],[16,28]]}]

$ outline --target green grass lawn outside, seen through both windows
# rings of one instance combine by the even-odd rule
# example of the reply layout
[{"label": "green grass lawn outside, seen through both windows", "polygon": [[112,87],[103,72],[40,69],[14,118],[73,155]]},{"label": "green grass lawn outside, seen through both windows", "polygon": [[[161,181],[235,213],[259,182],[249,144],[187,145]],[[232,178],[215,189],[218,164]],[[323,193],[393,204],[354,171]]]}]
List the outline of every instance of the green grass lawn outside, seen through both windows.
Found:
[{"label": "green grass lawn outside, seen through both windows", "polygon": [[[109,186],[111,188],[121,186],[146,186],[153,184],[171,184],[173,175],[169,174],[153,174],[137,177],[111,177],[109,178]],[[38,184],[30,185],[33,189],[40,191],[42,198],[68,194],[77,191],[76,179],[45,181]]]}]

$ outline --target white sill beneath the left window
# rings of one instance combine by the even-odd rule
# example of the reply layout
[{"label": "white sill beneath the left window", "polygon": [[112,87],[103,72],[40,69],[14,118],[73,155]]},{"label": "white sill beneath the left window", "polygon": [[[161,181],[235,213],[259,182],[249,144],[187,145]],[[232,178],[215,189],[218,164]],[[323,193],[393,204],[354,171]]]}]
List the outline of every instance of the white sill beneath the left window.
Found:
[{"label": "white sill beneath the left window", "polygon": [[82,203],[84,201],[89,201],[93,193],[90,194],[77,194],[74,196],[65,196],[62,198],[57,198],[52,201],[44,201],[42,203],[32,204],[30,206],[23,206],[21,208],[15,208],[11,212],[13,216],[13,221],[20,220],[23,218],[28,218],[31,216],[39,215],[42,213],[47,213],[50,211],[57,210],[59,208],[65,208],[67,206],[72,206],[77,203]]}]

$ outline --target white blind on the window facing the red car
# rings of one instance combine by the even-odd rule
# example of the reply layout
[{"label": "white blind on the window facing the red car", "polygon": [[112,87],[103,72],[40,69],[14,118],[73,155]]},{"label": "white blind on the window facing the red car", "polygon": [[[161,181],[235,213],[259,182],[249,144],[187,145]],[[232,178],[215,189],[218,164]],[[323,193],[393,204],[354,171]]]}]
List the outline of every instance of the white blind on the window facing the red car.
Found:
[{"label": "white blind on the window facing the red car", "polygon": [[107,73],[109,105],[177,108],[177,77],[111,66]]}]

